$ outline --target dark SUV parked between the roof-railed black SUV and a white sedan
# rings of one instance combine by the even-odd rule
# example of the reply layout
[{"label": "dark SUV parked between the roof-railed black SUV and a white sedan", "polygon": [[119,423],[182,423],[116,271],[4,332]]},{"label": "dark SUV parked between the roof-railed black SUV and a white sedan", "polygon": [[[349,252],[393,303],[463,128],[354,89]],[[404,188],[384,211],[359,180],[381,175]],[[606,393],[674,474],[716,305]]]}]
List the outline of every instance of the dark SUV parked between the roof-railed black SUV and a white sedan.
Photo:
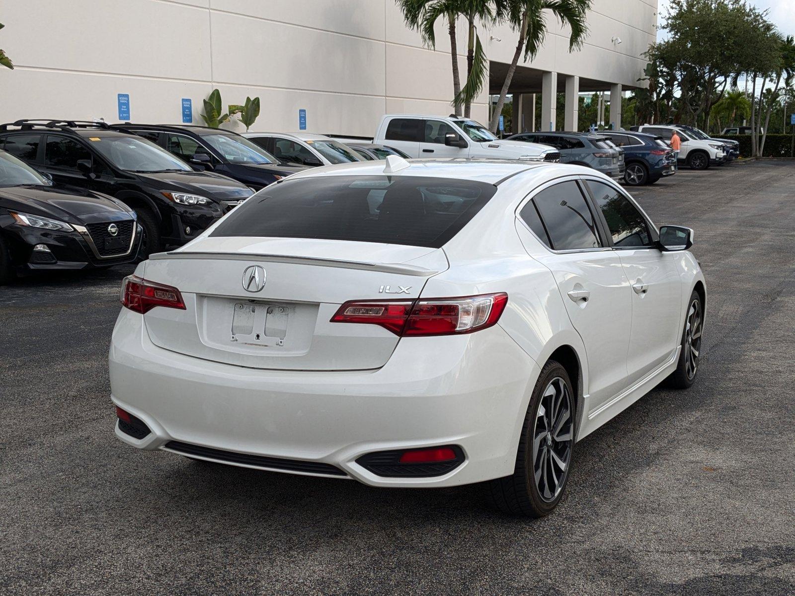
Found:
[{"label": "dark SUV parked between the roof-railed black SUV and a white sedan", "polygon": [[130,130],[196,168],[224,174],[255,191],[306,169],[304,165],[279,161],[250,139],[231,130],[130,122],[114,125],[114,128]]}]

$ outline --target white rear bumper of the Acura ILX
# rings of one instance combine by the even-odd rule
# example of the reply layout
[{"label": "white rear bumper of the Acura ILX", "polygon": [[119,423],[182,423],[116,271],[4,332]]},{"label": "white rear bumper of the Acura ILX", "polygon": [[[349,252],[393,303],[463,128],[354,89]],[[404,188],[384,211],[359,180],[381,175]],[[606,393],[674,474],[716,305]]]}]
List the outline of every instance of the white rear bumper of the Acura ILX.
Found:
[{"label": "white rear bumper of the Acura ILX", "polygon": [[[190,445],[330,464],[370,486],[456,486],[511,474],[538,367],[501,327],[409,338],[381,369],[255,370],[176,354],[122,309],[110,352],[111,399],[151,433],[134,447]],[[385,478],[356,459],[373,451],[456,445],[465,461],[431,478]],[[211,457],[207,459],[213,459]],[[242,460],[242,458],[239,458]],[[246,462],[232,465],[293,474]]]}]

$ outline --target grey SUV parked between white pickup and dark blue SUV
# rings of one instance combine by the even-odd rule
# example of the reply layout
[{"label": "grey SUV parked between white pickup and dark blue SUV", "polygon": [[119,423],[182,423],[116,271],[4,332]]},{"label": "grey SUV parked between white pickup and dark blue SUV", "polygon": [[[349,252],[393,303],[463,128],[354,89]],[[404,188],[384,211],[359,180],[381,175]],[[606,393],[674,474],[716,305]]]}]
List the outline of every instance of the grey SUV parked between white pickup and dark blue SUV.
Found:
[{"label": "grey SUV parked between white pickup and dark blue SUV", "polygon": [[624,152],[603,137],[590,133],[520,133],[510,141],[552,145],[560,152],[561,164],[584,165],[610,176],[624,177]]}]

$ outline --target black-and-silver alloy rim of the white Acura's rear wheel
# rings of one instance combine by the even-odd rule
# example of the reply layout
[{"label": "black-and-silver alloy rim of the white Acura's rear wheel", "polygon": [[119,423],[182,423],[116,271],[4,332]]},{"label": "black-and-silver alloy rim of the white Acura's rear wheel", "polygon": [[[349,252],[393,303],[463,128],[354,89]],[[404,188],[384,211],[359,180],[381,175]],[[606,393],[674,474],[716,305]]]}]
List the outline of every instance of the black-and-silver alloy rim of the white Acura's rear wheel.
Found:
[{"label": "black-and-silver alloy rim of the white Acura's rear wheel", "polygon": [[561,377],[549,381],[541,394],[533,424],[533,479],[538,494],[551,502],[563,490],[572,458],[574,416],[572,393]]}]

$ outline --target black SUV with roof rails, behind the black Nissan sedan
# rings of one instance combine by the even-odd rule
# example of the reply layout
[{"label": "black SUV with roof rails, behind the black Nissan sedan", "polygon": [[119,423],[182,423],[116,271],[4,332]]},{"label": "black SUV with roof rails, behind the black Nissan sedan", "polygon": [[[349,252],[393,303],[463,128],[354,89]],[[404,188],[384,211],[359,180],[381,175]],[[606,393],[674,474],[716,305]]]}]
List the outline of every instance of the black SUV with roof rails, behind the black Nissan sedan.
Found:
[{"label": "black SUV with roof rails, behind the black Nissan sedan", "polygon": [[245,184],[195,172],[161,147],[104,122],[17,120],[0,149],[68,185],[129,205],[144,229],[140,254],[182,245],[252,194]]}]

